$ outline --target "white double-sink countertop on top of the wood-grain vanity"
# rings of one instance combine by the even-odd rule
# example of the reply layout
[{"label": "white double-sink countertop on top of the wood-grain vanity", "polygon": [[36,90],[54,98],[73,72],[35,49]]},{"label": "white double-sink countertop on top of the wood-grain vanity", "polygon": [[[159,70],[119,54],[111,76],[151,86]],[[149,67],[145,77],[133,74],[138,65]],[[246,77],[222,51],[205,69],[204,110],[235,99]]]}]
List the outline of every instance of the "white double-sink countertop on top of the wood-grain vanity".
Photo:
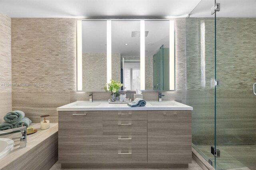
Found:
[{"label": "white double-sink countertop on top of the wood-grain vanity", "polygon": [[144,111],[144,110],[193,110],[193,107],[176,101],[146,101],[144,107],[130,107],[127,104],[109,104],[108,101],[76,101],[57,108],[57,111]]}]

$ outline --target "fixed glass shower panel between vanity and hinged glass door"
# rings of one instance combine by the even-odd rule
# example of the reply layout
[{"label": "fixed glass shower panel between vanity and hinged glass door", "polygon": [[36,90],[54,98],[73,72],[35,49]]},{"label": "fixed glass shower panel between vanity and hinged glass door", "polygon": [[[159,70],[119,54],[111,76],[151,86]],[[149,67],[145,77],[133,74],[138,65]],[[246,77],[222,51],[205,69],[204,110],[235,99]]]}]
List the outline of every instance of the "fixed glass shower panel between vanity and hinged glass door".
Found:
[{"label": "fixed glass shower panel between vanity and hinged glass door", "polygon": [[193,107],[192,146],[215,167],[214,0],[202,0],[186,18],[186,104]]}]

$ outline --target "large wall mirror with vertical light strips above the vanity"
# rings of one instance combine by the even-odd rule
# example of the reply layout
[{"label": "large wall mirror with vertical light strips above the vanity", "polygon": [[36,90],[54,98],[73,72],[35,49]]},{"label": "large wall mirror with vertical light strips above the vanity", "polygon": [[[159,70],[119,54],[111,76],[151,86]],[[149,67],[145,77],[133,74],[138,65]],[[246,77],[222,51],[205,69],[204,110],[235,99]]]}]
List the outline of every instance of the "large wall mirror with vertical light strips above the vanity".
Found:
[{"label": "large wall mirror with vertical light strips above the vanity", "polygon": [[77,90],[174,91],[175,38],[171,20],[83,20],[77,24]]}]

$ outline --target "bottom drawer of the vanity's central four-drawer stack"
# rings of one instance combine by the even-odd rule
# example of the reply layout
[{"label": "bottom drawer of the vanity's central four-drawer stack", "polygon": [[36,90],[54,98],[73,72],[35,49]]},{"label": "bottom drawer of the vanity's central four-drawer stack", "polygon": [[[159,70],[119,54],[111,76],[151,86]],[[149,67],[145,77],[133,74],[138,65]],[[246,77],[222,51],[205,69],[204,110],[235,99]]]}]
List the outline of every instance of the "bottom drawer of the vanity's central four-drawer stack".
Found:
[{"label": "bottom drawer of the vanity's central four-drawer stack", "polygon": [[147,150],[104,149],[103,163],[147,163]]}]

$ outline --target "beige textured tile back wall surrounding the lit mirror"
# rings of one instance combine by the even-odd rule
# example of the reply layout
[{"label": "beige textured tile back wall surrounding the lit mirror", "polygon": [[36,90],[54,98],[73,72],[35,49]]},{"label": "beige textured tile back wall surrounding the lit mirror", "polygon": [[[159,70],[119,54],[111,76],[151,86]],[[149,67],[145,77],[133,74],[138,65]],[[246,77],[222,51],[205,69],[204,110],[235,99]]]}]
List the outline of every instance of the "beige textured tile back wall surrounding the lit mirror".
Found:
[{"label": "beige textured tile back wall surrounding the lit mirror", "polygon": [[[12,82],[51,83],[50,87],[12,87],[12,110],[24,111],[34,123],[39,123],[41,115],[50,115],[56,123],[56,107],[88,100],[88,92],[76,92],[76,21],[12,18]],[[176,91],[165,92],[163,100],[186,102],[185,24],[184,18],[175,20]],[[158,100],[156,92],[143,94],[146,100]],[[94,93],[94,101],[108,99],[106,92]]]}]

